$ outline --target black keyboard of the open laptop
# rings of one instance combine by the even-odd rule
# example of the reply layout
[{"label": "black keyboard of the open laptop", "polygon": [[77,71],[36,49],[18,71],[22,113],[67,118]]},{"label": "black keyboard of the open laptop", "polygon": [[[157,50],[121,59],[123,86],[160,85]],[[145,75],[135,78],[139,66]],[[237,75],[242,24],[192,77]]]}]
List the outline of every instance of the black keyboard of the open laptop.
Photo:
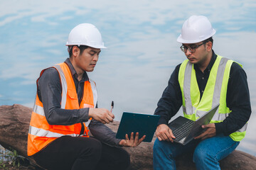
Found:
[{"label": "black keyboard of the open laptop", "polygon": [[174,130],[173,134],[176,137],[175,140],[178,140],[178,141],[185,140],[185,137],[188,135],[188,132],[191,130],[193,123],[194,122],[192,120],[188,120],[186,121],[186,123],[184,123],[179,128]]}]

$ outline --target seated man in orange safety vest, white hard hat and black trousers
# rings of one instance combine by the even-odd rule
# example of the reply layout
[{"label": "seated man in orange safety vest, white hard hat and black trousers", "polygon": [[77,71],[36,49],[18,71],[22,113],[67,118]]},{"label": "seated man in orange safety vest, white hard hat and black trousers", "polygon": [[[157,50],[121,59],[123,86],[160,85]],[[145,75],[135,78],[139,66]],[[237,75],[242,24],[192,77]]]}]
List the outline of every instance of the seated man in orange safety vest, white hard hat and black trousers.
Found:
[{"label": "seated man in orange safety vest, white hard hat and black trousers", "polygon": [[[105,123],[114,115],[97,108],[95,81],[87,77],[106,48],[95,26],[82,23],[68,36],[69,58],[43,69],[28,132],[28,156],[46,169],[127,169],[129,154],[144,137],[118,140]],[[89,132],[93,137],[89,137]]]}]

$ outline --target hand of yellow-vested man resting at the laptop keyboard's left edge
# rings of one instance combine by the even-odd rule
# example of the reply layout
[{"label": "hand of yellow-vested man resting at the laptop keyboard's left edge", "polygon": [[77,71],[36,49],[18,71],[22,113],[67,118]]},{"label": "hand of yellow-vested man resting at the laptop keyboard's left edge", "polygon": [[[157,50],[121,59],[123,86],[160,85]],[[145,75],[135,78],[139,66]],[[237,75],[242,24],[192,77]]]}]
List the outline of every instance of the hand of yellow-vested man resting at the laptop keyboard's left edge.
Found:
[{"label": "hand of yellow-vested man resting at the laptop keyboard's left edge", "polygon": [[174,134],[172,133],[172,130],[169,128],[168,125],[161,124],[158,125],[156,128],[156,137],[161,141],[161,140],[166,140],[166,141],[171,141],[174,142],[173,138]]}]

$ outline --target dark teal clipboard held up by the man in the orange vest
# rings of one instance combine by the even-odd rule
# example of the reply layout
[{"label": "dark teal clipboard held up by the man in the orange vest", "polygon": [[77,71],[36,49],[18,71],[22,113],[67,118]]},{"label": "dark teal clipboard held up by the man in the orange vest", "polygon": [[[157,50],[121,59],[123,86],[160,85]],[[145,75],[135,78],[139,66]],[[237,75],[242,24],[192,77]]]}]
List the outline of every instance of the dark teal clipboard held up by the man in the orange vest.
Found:
[{"label": "dark teal clipboard held up by the man in the orange vest", "polygon": [[146,135],[143,142],[151,142],[159,118],[159,115],[124,112],[117,130],[116,138],[125,139],[125,135],[127,134],[130,139],[132,132],[134,132],[134,137],[136,132],[139,132],[139,139]]}]

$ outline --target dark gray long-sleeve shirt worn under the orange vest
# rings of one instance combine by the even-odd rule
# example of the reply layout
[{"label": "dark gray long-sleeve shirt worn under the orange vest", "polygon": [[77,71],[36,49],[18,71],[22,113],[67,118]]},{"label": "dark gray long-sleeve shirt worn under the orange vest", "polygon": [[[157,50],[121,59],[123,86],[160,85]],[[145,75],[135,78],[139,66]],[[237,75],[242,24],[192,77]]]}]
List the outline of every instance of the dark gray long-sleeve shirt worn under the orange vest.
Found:
[{"label": "dark gray long-sleeve shirt worn under the orange vest", "polygon": [[[78,81],[78,74],[75,72],[70,60],[65,60],[65,63],[70,67],[71,74],[75,83],[75,89],[78,94],[80,103],[83,94],[85,81],[88,81],[87,73],[82,75],[82,80]],[[89,108],[80,109],[63,109],[60,108],[61,103],[61,83],[58,71],[50,67],[46,69],[37,81],[38,98],[43,103],[43,109],[46,115],[46,120],[50,125],[73,125],[75,123],[87,122],[89,119]],[[119,146],[119,139],[115,138],[115,133],[106,125],[92,119],[89,125],[92,135],[110,146]]]}]

